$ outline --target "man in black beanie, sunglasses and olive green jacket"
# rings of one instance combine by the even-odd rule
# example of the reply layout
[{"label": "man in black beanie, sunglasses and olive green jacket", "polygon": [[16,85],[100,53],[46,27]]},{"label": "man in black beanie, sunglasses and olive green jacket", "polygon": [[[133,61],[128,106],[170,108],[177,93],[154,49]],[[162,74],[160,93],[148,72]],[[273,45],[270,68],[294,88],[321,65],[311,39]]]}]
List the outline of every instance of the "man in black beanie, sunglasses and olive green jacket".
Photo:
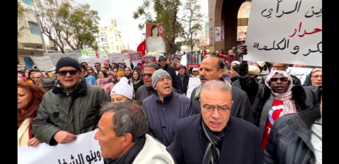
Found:
[{"label": "man in black beanie, sunglasses and olive green jacket", "polygon": [[59,80],[47,91],[37,117],[32,121],[34,136],[48,145],[66,144],[78,134],[95,130],[100,119],[100,105],[110,102],[99,87],[87,85],[76,59],[59,59]]}]

